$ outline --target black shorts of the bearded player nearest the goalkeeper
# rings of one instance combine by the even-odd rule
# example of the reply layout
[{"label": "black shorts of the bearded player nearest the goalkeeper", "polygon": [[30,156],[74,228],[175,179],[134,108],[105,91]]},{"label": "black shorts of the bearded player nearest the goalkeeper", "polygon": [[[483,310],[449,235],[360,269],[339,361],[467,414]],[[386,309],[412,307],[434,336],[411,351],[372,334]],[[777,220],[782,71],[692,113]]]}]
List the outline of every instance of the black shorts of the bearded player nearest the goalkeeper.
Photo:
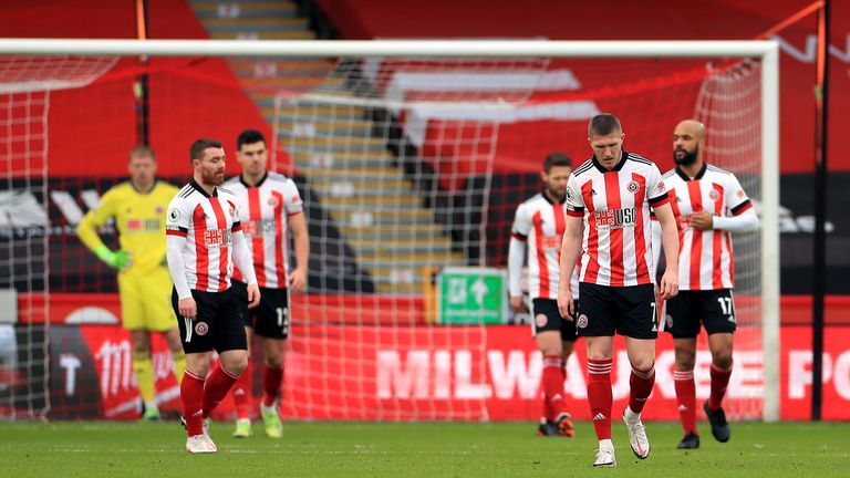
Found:
[{"label": "black shorts of the bearded player nearest the goalkeeper", "polygon": [[224,292],[201,292],[191,290],[197,306],[195,320],[184,319],[177,306],[177,290],[172,291],[172,306],[177,315],[183,351],[203,353],[229,350],[248,350],[242,318],[232,293],[232,288]]}]

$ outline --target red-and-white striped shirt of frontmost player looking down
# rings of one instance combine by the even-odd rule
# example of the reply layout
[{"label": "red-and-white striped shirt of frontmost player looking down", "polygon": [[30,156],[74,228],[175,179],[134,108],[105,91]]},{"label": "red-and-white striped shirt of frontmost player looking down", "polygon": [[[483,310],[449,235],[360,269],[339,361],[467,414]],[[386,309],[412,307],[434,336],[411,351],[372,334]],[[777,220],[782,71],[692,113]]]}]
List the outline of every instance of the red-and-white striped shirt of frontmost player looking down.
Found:
[{"label": "red-and-white striped shirt of frontmost player looking down", "polygon": [[624,150],[611,170],[595,157],[573,170],[567,214],[584,220],[579,280],[610,287],[654,283],[650,206],[667,200],[659,167],[634,153]]}]

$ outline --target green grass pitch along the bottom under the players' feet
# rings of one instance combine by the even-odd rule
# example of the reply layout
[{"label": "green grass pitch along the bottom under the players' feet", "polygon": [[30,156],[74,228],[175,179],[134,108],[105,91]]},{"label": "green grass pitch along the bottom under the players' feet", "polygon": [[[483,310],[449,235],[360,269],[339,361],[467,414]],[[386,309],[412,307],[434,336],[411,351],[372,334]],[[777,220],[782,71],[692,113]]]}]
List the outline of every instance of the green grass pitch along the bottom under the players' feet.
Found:
[{"label": "green grass pitch along the bottom under the players' feet", "polygon": [[591,466],[592,425],[574,438],[535,436],[530,423],[284,423],[271,440],[230,437],[215,423],[216,455],[188,455],[186,435],[165,423],[3,423],[0,476],[8,477],[493,477],[493,476],[850,476],[850,424],[734,423],[719,444],[701,424],[698,450],[675,449],[676,423],[647,423],[652,454],[632,455],[622,423],[614,423],[618,468]]}]

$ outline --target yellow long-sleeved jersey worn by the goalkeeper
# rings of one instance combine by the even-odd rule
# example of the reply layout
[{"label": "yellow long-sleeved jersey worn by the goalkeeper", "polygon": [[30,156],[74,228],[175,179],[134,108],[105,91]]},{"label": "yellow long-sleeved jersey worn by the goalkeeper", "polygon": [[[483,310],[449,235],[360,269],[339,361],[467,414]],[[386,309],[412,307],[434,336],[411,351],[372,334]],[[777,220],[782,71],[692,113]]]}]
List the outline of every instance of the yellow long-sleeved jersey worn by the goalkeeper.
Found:
[{"label": "yellow long-sleeved jersey worn by the goalkeeper", "polygon": [[90,210],[76,233],[91,249],[103,246],[97,228],[115,219],[121,249],[129,253],[131,263],[124,273],[145,273],[165,263],[165,209],[179,189],[157,180],[149,193],[138,191],[129,181],[111,188],[101,205]]}]

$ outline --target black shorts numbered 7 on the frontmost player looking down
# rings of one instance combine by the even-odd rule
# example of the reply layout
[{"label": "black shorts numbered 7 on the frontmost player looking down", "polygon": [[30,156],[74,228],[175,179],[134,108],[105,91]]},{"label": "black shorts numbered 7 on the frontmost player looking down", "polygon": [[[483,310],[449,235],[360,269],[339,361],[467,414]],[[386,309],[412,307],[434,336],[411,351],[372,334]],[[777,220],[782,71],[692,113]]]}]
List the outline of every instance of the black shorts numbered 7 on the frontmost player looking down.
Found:
[{"label": "black shorts numbered 7 on the frontmost player looking down", "polygon": [[655,289],[652,284],[631,287],[579,283],[581,305],[576,319],[579,336],[657,339]]}]

